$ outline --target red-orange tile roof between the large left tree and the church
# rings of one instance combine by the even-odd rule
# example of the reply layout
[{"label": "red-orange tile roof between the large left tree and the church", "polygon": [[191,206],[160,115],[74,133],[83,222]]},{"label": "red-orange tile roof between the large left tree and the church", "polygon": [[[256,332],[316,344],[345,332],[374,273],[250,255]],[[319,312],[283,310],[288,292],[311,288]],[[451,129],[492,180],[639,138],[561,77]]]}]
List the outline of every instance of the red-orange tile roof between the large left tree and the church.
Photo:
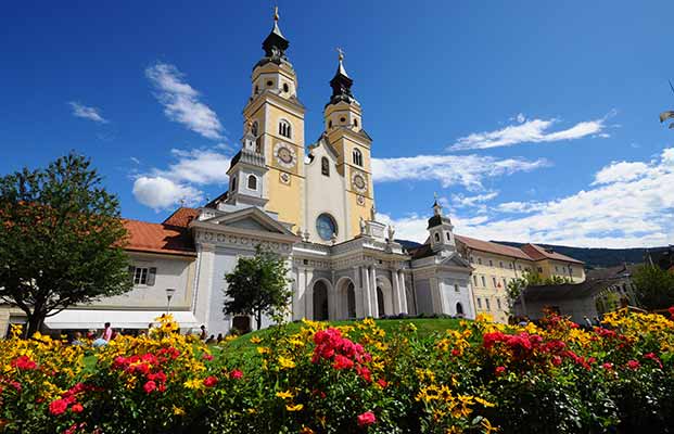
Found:
[{"label": "red-orange tile roof between the large left tree and the church", "polygon": [[123,219],[123,222],[128,232],[127,251],[196,256],[187,228],[129,219]]}]

